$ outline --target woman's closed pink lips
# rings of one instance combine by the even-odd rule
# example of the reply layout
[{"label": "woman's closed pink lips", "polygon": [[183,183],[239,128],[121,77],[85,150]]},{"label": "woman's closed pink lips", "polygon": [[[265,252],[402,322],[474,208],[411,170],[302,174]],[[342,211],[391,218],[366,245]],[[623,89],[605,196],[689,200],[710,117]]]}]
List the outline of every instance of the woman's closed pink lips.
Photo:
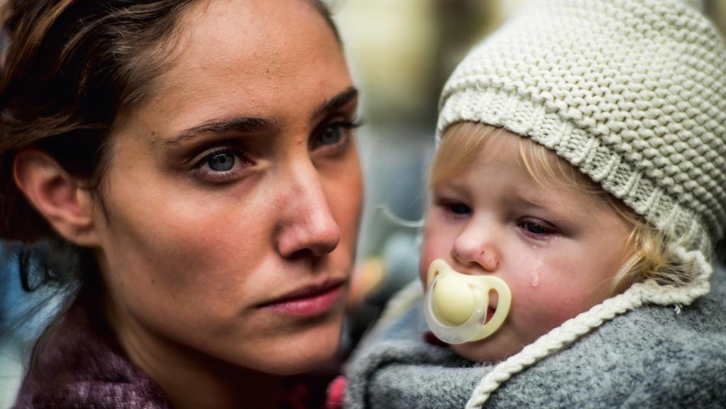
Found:
[{"label": "woman's closed pink lips", "polygon": [[345,281],[303,288],[279,299],[261,304],[259,308],[272,309],[286,315],[313,317],[329,311],[343,294]]}]

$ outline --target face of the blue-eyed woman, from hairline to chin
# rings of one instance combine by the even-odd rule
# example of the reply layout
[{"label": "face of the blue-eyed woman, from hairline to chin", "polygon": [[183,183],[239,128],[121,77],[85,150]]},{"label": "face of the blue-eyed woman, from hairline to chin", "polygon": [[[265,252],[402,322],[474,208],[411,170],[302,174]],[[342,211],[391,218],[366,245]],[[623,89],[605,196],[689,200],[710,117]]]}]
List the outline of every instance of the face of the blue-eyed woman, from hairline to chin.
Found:
[{"label": "face of the blue-eyed woman, from hairline to chin", "polygon": [[301,0],[200,1],[180,27],[113,129],[95,215],[111,322],[142,355],[309,370],[338,345],[362,201],[340,45]]}]

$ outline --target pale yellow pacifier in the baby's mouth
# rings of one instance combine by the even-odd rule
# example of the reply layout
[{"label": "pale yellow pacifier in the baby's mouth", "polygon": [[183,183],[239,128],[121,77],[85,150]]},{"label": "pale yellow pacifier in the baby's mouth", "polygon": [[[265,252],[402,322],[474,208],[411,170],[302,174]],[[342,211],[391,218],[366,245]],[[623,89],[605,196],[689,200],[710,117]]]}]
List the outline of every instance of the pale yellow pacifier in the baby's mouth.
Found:
[{"label": "pale yellow pacifier in the baby's mouth", "polygon": [[[442,259],[428,267],[426,286],[428,328],[449,344],[479,341],[492,335],[504,323],[512,304],[512,293],[501,278],[462,274]],[[486,322],[492,290],[497,291],[499,301],[494,316]]]}]

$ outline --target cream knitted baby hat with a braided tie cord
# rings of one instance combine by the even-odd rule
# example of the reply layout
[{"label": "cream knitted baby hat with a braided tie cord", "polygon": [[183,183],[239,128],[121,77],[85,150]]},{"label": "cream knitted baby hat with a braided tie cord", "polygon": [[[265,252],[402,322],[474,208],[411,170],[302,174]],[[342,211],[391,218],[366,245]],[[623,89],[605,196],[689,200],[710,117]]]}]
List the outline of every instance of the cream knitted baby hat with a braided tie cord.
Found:
[{"label": "cream knitted baby hat with a braided tie cord", "polygon": [[474,121],[544,145],[666,232],[696,279],[636,284],[555,328],[489,373],[468,408],[617,314],[708,293],[706,254],[726,222],[726,45],[699,2],[530,1],[454,70],[437,140]]}]

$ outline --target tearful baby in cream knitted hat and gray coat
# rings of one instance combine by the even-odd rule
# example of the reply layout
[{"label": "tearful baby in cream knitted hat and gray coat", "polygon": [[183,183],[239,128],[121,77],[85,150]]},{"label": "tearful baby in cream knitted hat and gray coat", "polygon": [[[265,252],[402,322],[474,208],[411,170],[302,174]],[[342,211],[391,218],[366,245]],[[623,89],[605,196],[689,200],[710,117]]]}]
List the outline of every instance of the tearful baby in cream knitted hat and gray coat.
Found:
[{"label": "tearful baby in cream knitted hat and gray coat", "polygon": [[726,46],[698,10],[532,1],[437,137],[425,294],[391,301],[346,408],[726,405]]}]

